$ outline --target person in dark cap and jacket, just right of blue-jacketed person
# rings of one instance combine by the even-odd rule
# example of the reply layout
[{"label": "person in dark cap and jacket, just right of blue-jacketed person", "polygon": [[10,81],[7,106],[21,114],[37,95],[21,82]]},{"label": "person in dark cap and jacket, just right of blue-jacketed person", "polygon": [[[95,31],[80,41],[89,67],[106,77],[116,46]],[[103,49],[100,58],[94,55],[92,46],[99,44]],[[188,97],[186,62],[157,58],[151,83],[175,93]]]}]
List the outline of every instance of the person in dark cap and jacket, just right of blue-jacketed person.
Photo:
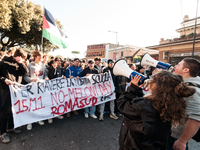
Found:
[{"label": "person in dark cap and jacket, just right of blue-jacketed person", "polygon": [[[99,71],[94,68],[94,61],[93,60],[89,60],[88,61],[88,67],[85,68],[82,72],[82,77],[84,76],[89,76],[90,74],[99,74]],[[96,111],[96,106],[92,106],[92,107],[87,107],[84,108],[84,114],[85,114],[85,118],[88,118],[88,114],[90,114],[90,117],[96,119],[97,116],[95,115],[95,111]]]}]

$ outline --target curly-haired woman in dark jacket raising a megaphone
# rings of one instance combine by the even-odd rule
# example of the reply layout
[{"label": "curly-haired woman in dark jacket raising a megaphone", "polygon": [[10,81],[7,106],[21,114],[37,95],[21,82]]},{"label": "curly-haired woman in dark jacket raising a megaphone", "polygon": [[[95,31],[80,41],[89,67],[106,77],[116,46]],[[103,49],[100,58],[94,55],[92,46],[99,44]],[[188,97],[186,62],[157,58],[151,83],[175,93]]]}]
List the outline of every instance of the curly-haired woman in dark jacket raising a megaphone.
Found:
[{"label": "curly-haired woman in dark jacket raising a megaphone", "polygon": [[124,115],[119,149],[165,150],[171,125],[183,124],[186,117],[183,98],[195,89],[185,85],[181,76],[161,71],[149,80],[150,92],[143,96],[139,80],[135,76],[117,102]]}]

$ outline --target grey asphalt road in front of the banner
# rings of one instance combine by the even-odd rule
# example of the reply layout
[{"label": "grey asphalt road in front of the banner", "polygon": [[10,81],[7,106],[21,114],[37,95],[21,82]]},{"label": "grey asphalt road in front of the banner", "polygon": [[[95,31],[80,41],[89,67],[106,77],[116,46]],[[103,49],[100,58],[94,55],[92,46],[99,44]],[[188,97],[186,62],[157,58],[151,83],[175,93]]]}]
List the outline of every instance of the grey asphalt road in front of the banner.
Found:
[{"label": "grey asphalt road in front of the banner", "polygon": [[[104,121],[71,113],[71,117],[44,126],[33,124],[31,131],[21,127],[21,134],[11,134],[11,142],[0,142],[0,150],[117,150],[122,117],[114,120],[105,114]],[[200,144],[191,141],[190,150],[199,150]]]}]

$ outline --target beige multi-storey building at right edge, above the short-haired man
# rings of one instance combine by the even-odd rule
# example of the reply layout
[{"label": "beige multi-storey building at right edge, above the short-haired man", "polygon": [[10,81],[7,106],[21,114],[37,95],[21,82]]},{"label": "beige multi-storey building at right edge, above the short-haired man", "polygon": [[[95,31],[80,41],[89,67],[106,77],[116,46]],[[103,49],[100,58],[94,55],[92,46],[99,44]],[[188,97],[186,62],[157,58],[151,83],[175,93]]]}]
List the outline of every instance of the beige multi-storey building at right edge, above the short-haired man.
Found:
[{"label": "beige multi-storey building at right edge, above the short-haired man", "polygon": [[[186,15],[181,25],[182,27],[176,30],[180,34],[179,38],[161,38],[159,45],[146,47],[159,51],[159,61],[176,65],[182,59],[192,56],[195,18],[189,19]],[[197,18],[194,58],[200,60],[200,17]]]}]

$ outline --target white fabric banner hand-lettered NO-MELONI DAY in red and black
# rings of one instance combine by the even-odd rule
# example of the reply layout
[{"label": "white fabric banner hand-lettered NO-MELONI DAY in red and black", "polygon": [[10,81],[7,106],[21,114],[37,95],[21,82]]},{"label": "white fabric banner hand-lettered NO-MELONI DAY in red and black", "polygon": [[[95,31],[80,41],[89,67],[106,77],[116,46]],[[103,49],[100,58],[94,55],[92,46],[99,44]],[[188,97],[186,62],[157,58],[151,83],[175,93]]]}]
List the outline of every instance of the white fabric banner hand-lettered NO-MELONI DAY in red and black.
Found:
[{"label": "white fabric banner hand-lettered NO-MELONI DAY in red and black", "polygon": [[15,128],[115,99],[110,73],[14,83],[9,88]]}]

